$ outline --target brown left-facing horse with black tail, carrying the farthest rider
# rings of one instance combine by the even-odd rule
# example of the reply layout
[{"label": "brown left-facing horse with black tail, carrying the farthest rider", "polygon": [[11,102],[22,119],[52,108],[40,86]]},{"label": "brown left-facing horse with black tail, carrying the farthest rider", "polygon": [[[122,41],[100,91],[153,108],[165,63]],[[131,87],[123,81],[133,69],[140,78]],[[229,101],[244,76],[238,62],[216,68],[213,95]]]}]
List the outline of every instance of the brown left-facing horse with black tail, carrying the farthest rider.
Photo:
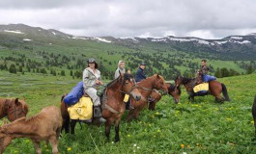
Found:
[{"label": "brown left-facing horse with black tail, carrying the farthest rider", "polygon": [[[218,81],[210,81],[209,82],[209,90],[206,93],[195,93],[193,91],[193,83],[195,79],[191,78],[185,78],[182,76],[178,76],[175,79],[176,86],[184,85],[185,89],[188,93],[188,99],[194,101],[194,96],[203,96],[207,94],[212,94],[215,97],[215,102],[224,102],[224,101],[230,101],[228,91],[226,89],[226,86],[223,83],[220,83]],[[220,94],[223,94],[224,97],[222,97]]]}]

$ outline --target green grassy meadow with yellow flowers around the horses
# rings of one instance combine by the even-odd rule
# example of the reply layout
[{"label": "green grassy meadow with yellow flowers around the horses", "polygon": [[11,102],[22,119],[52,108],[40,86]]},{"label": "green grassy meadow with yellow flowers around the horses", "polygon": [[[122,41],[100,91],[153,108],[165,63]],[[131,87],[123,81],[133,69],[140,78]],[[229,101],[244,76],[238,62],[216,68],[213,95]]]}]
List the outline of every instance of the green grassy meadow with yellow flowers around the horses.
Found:
[{"label": "green grassy meadow with yellow flowers around the horses", "polygon": [[[211,95],[187,100],[183,88],[181,102],[174,104],[163,96],[156,111],[144,110],[136,121],[120,125],[121,141],[106,141],[104,125],[79,124],[75,136],[62,134],[59,151],[62,154],[89,153],[242,153],[256,152],[251,106],[256,94],[256,74],[221,78],[228,89],[230,102],[217,104]],[[61,95],[69,92],[79,80],[42,74],[11,74],[0,71],[0,96],[25,98],[30,107],[28,116],[43,107],[60,105]],[[3,121],[0,120],[0,123]],[[113,127],[112,127],[113,128]],[[51,147],[41,143],[43,154]],[[15,139],[5,154],[35,153],[29,139]]]}]

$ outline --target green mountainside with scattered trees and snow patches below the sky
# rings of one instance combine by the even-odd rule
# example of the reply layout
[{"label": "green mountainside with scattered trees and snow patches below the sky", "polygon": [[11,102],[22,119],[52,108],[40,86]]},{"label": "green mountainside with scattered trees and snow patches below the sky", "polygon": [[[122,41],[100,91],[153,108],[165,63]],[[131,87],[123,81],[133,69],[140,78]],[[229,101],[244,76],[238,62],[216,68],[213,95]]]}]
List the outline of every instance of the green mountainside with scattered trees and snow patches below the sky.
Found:
[{"label": "green mountainside with scattered trees and snow patches below the sky", "polygon": [[177,74],[193,76],[201,59],[208,59],[212,74],[227,68],[243,74],[255,68],[256,35],[230,36],[224,39],[175,38],[115,39],[77,37],[57,30],[44,30],[24,24],[0,25],[0,68],[11,65],[22,73],[81,76],[86,60],[95,57],[105,79],[112,79],[117,62],[127,62],[136,71],[145,61],[148,75],[160,73],[166,79]]}]

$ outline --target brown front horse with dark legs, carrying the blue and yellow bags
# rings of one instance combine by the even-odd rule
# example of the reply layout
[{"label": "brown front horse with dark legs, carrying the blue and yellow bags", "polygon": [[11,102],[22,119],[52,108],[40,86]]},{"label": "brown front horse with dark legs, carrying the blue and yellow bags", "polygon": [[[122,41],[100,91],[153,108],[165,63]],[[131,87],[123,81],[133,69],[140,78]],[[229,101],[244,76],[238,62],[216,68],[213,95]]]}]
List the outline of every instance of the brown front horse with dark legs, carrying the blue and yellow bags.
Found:
[{"label": "brown front horse with dark legs, carrying the blue and yellow bags", "polygon": [[[125,112],[124,98],[125,94],[129,94],[135,100],[139,100],[141,95],[137,90],[137,85],[130,74],[120,74],[120,76],[107,84],[104,90],[104,95],[101,97],[101,113],[106,119],[105,122],[105,136],[109,141],[111,125],[115,122],[115,142],[120,141],[119,124]],[[69,133],[70,116],[68,113],[68,106],[61,102],[61,111],[64,119],[63,128],[66,133]],[[93,119],[94,120],[94,119]],[[74,126],[76,120],[71,119],[71,134],[74,134]]]}]

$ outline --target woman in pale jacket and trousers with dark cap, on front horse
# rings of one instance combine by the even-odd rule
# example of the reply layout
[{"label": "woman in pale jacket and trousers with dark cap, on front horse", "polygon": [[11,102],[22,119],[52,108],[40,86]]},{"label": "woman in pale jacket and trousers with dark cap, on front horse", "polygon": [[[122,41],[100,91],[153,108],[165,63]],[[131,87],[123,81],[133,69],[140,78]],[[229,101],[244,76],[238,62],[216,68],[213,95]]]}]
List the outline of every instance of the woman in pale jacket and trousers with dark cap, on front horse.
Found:
[{"label": "woman in pale jacket and trousers with dark cap, on front horse", "polygon": [[88,61],[88,67],[83,71],[83,88],[93,100],[94,104],[94,117],[99,117],[100,122],[106,120],[102,117],[100,111],[100,96],[97,95],[97,88],[103,83],[100,81],[100,70],[98,64],[94,58],[90,58]]}]

